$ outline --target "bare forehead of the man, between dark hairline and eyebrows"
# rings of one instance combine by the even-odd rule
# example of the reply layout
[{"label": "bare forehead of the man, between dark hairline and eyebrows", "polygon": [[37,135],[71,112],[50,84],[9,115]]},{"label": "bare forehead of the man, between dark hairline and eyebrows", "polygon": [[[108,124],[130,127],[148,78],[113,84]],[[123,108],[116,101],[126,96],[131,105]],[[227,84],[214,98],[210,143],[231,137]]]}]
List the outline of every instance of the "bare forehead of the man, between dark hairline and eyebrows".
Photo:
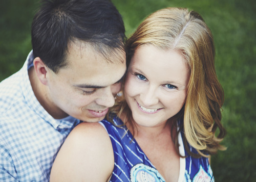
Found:
[{"label": "bare forehead of the man, between dark hairline and eyebrows", "polygon": [[[79,45],[79,44],[78,44]],[[91,47],[75,45],[69,49],[68,65],[59,74],[77,88],[104,88],[118,82],[126,71],[125,53],[122,61],[108,62]],[[77,49],[76,49],[77,48]],[[117,59],[114,57],[113,59]]]}]

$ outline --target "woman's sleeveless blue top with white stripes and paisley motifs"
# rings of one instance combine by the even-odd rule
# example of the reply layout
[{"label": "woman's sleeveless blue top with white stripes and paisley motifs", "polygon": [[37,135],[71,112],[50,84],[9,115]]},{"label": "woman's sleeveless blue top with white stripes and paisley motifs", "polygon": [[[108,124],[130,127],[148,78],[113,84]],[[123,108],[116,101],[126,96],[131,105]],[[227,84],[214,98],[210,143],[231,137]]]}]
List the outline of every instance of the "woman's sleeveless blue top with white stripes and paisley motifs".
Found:
[{"label": "woman's sleeveless blue top with white stripes and paisley motifs", "polygon": [[[122,125],[123,122],[115,117],[114,123]],[[130,131],[126,132],[126,127],[122,128],[103,120],[100,124],[108,132],[114,151],[115,166],[110,181],[165,181],[154,165],[148,160],[141,150]],[[184,149],[182,136],[179,134],[179,151],[184,156],[188,155]],[[190,148],[191,150],[193,148]],[[179,182],[183,181],[214,181],[214,176],[207,158],[180,158]]]}]

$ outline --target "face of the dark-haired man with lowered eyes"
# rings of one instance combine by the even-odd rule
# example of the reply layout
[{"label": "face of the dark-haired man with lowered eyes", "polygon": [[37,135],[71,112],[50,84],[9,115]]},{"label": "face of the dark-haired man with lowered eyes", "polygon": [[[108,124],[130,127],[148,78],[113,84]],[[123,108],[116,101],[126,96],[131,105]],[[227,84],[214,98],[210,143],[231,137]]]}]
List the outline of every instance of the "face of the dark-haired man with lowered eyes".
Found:
[{"label": "face of the dark-haired man with lowered eyes", "polygon": [[[123,63],[117,60],[120,58]],[[124,52],[111,59],[114,63],[108,63],[88,46],[73,44],[67,55],[68,65],[57,73],[48,69],[46,74],[53,117],[71,115],[87,122],[102,120],[114,105],[126,70]]]}]

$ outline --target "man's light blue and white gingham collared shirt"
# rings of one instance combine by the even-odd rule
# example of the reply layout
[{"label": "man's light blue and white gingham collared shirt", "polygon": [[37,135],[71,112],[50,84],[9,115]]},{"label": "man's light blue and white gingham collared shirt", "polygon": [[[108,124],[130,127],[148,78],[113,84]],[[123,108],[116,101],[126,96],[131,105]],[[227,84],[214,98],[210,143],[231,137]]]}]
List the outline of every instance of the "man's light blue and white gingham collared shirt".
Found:
[{"label": "man's light blue and white gingham collared shirt", "polygon": [[49,181],[55,155],[73,117],[56,120],[37,101],[28,77],[32,51],[24,66],[0,83],[0,181]]}]

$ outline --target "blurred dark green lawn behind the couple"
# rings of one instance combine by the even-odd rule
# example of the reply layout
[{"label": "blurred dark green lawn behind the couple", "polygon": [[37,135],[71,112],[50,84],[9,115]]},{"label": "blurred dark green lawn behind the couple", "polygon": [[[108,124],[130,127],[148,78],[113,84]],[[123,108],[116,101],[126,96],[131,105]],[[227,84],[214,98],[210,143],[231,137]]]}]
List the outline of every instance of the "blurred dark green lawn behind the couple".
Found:
[{"label": "blurred dark green lawn behind the couple", "polygon": [[[129,37],[144,17],[165,7],[199,12],[215,38],[216,68],[225,91],[223,123],[228,148],[211,159],[216,181],[256,178],[256,3],[252,0],[113,0]],[[22,67],[31,50],[35,0],[0,1],[0,81]],[[1,93],[0,93],[1,94]]]}]

